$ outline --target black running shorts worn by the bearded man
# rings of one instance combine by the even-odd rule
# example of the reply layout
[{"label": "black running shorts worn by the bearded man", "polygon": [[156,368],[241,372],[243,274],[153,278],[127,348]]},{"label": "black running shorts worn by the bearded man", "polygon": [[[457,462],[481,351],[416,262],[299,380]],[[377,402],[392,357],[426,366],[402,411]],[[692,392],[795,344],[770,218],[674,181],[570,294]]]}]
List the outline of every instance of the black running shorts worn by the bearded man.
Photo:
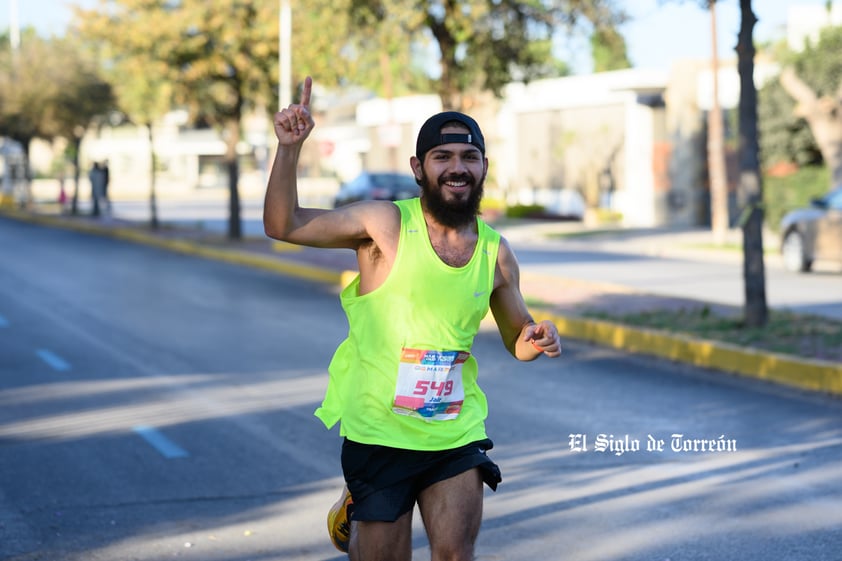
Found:
[{"label": "black running shorts worn by the bearded man", "polygon": [[439,481],[479,468],[483,481],[497,490],[500,468],[486,456],[494,446],[485,439],[452,450],[426,452],[342,444],[342,471],[354,500],[352,520],[394,522],[409,512],[418,495]]}]

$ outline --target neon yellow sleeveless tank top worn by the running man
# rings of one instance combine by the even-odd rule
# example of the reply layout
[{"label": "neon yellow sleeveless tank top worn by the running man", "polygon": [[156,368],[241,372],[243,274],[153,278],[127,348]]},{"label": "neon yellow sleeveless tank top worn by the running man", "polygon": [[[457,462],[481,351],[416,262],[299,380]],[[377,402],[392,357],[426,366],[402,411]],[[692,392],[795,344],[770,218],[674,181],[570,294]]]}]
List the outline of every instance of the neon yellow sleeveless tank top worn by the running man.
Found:
[{"label": "neon yellow sleeveless tank top worn by the running man", "polygon": [[359,277],[342,291],[350,329],[315,414],[365,444],[444,450],[481,440],[488,403],[470,351],[488,313],[500,235],[477,219],[471,260],[451,267],[430,243],[420,200],[395,204],[394,266],[368,294],[359,295]]}]

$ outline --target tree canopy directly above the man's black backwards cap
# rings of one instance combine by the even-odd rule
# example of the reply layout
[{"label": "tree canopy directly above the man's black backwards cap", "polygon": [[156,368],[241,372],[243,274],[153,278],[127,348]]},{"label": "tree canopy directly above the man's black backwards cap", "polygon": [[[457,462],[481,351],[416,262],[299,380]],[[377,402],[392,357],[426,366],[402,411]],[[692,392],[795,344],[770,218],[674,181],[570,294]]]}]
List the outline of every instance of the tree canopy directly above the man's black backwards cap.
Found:
[{"label": "tree canopy directly above the man's black backwards cap", "polygon": [[350,8],[378,26],[401,22],[410,44],[431,37],[439,52],[437,93],[453,109],[478,91],[499,94],[513,80],[563,75],[554,36],[612,29],[625,20],[610,0],[351,0]]}]

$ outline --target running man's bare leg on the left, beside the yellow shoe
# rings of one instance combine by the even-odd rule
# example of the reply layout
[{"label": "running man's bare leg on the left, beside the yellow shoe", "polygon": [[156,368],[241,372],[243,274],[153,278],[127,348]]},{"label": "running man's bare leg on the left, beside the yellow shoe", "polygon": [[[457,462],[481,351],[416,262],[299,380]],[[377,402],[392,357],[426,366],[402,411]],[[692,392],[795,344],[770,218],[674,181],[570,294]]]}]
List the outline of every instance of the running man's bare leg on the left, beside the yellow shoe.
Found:
[{"label": "running man's bare leg on the left, beside the yellow shoe", "polygon": [[394,522],[351,522],[351,561],[412,561],[412,511]]}]

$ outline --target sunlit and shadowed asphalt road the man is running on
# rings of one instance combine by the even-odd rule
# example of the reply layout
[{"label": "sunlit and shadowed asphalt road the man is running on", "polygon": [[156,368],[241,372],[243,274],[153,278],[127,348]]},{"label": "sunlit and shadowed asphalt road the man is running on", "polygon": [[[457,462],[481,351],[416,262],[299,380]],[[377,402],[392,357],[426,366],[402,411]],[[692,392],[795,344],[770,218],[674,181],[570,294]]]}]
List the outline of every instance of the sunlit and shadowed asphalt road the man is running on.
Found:
[{"label": "sunlit and shadowed asphalt road the man is running on", "polygon": [[[340,442],[312,417],[346,330],[331,290],[0,239],[0,559],[344,558]],[[842,559],[839,400],[575,343],[521,364],[491,325],[475,353],[504,477],[480,561]]]}]

